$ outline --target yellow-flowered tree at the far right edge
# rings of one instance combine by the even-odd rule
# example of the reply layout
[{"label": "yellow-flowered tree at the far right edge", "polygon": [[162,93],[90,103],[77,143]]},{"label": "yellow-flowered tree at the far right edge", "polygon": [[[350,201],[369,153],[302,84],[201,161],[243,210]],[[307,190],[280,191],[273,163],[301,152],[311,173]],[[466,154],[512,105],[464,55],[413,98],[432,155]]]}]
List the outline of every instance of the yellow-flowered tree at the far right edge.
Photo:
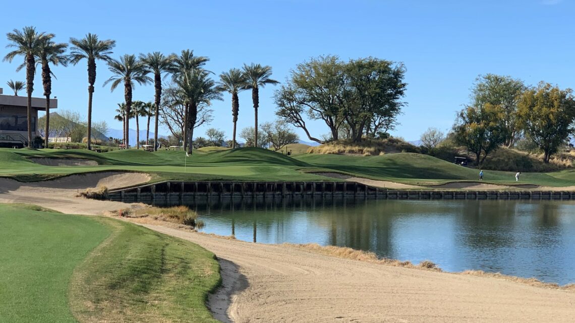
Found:
[{"label": "yellow-flowered tree at the far right edge", "polygon": [[527,90],[520,98],[517,117],[528,139],[543,151],[543,161],[549,163],[575,130],[573,91],[540,82],[537,89]]}]

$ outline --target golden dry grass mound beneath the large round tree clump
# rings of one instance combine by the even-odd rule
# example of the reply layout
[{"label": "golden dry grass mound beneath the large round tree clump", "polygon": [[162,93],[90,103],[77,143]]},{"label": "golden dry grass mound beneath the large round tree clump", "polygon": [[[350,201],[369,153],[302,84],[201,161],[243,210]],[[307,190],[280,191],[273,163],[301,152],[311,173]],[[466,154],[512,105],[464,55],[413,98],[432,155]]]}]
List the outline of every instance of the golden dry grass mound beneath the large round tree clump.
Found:
[{"label": "golden dry grass mound beneath the large round tree clump", "polygon": [[308,153],[346,154],[377,156],[394,152],[420,152],[419,148],[398,138],[363,139],[359,143],[351,140],[338,140],[317,147],[310,147]]}]

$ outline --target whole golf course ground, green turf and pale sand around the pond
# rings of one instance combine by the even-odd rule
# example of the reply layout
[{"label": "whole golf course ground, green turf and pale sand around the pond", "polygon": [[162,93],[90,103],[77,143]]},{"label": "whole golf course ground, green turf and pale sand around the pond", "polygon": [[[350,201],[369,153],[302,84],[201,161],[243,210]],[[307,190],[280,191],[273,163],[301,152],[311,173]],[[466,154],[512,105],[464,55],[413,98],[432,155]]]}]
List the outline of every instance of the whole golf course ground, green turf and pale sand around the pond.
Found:
[{"label": "whole golf course ground, green turf and pale sand around the pond", "polygon": [[[334,180],[334,174],[400,187],[434,188],[453,183],[476,187],[475,169],[426,155],[285,156],[258,148],[208,148],[195,150],[187,157],[182,151],[166,150],[95,153],[0,149],[0,160],[0,202],[8,203],[0,205],[0,248],[4,251],[0,259],[0,313],[7,321],[216,322],[213,317],[224,322],[247,322],[257,317],[282,321],[294,311],[302,314],[290,321],[308,322],[309,316],[322,321],[330,313],[325,312],[328,309],[324,309],[323,301],[312,300],[314,295],[328,294],[329,303],[339,308],[340,314],[334,317],[384,319],[416,311],[415,307],[384,310],[378,303],[377,295],[405,286],[411,286],[419,295],[417,303],[435,313],[435,321],[431,322],[444,321],[451,314],[462,318],[462,313],[510,318],[505,314],[509,311],[520,319],[522,314],[513,312],[516,307],[509,300],[536,303],[530,315],[544,317],[550,314],[543,310],[545,306],[557,315],[569,313],[568,304],[575,297],[570,286],[558,289],[531,280],[513,282],[411,265],[397,267],[393,262],[373,263],[369,257],[363,262],[342,257],[347,252],[250,244],[158,224],[139,226],[98,215],[141,205],[76,197],[77,191],[98,185],[113,189],[174,179],[329,181]],[[489,171],[481,184],[512,187],[512,176],[511,172]],[[575,184],[575,174],[570,170],[524,174],[521,184],[569,189]],[[347,274],[342,276],[342,270]],[[356,276],[358,272],[361,278]],[[386,279],[388,275],[395,278]],[[333,294],[334,283],[340,286],[338,295]],[[361,287],[364,284],[373,288]],[[436,284],[436,291],[447,293],[450,310],[443,309],[440,299],[424,296],[428,284]],[[313,286],[313,292],[305,291],[305,286]],[[362,289],[362,294],[356,293]],[[526,289],[536,293],[525,294]],[[210,297],[216,290],[217,294]],[[280,296],[286,293],[293,298]],[[496,294],[499,296],[494,298]],[[309,309],[301,310],[297,299],[305,299]],[[391,299],[411,304],[402,293]],[[471,299],[490,303],[489,314],[480,307],[462,312]],[[553,305],[545,305],[551,299]],[[358,316],[355,307],[360,304],[371,304],[380,314]],[[428,317],[425,320],[430,321]]]}]

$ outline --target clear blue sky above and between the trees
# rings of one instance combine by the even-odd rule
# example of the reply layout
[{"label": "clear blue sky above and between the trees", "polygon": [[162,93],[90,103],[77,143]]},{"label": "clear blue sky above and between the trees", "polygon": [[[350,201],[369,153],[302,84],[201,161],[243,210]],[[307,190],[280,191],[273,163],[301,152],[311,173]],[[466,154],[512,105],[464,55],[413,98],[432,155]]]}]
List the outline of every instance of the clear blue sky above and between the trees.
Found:
[{"label": "clear blue sky above and between the trees", "polygon": [[[90,5],[88,5],[90,3]],[[407,67],[408,105],[393,132],[417,140],[429,126],[447,130],[455,111],[469,102],[469,89],[478,74],[496,73],[573,87],[575,4],[567,0],[507,1],[60,1],[55,5],[30,1],[0,5],[0,55],[8,49],[6,32],[33,25],[56,34],[56,40],[81,38],[87,32],[114,39],[114,57],[124,53],[179,52],[190,48],[210,58],[206,68],[219,74],[243,63],[273,67],[284,81],[297,63],[312,56],[342,59],[375,56],[402,61]],[[25,80],[16,72],[20,60],[0,62],[0,87],[9,79]],[[59,108],[86,115],[86,63],[55,68],[53,95]],[[40,74],[34,96],[40,97]],[[110,93],[102,83],[110,73],[97,69],[93,120],[113,120],[123,89]],[[275,87],[260,90],[260,122],[274,120],[271,99]],[[136,86],[134,99],[152,100],[154,90]],[[231,98],[213,103],[212,125],[231,136]],[[240,94],[238,128],[252,125],[251,95]],[[319,137],[328,129],[311,123]],[[135,125],[134,125],[135,127]],[[206,128],[198,130],[203,135]],[[160,133],[167,134],[164,129]],[[303,133],[302,139],[306,140]]]}]

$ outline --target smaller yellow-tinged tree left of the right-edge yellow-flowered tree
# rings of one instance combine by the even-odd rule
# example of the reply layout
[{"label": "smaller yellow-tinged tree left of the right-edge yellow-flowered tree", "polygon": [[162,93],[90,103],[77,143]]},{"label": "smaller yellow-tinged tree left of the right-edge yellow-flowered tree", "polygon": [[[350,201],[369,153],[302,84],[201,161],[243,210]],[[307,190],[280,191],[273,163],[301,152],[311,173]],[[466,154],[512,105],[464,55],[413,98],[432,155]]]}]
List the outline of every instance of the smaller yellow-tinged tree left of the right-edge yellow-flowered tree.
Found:
[{"label": "smaller yellow-tinged tree left of the right-edge yellow-flowered tree", "polygon": [[507,139],[507,129],[501,122],[503,115],[501,106],[489,103],[482,107],[468,106],[457,113],[453,126],[455,140],[476,155],[476,165],[483,163]]}]

